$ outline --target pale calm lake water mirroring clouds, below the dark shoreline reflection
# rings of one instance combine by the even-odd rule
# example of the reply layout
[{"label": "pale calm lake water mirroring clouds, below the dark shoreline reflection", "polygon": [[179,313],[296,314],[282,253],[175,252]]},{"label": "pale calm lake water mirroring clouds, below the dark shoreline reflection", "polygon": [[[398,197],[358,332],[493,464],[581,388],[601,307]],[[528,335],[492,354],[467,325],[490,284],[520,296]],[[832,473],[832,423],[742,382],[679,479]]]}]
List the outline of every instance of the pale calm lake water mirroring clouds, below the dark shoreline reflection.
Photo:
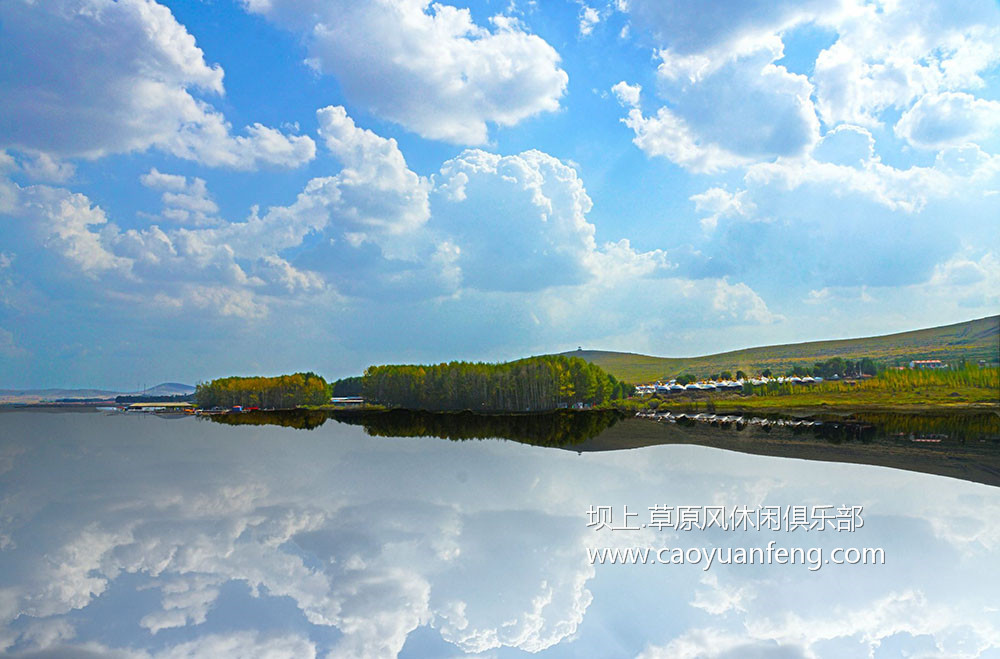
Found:
[{"label": "pale calm lake water mirroring clouds, below the dark shoreline reflection", "polygon": [[[673,434],[589,450],[628,423],[586,450],[561,450],[371,437],[335,421],[303,431],[4,412],[0,648],[36,657],[1000,657],[1000,488],[671,443]],[[625,517],[625,506],[637,515]],[[700,511],[701,523],[709,510],[744,506],[774,506],[792,521],[798,509],[788,506],[807,506],[812,521],[861,506],[840,517],[863,526],[657,529],[656,506],[691,506],[685,514]],[[597,528],[605,522],[639,530]],[[704,560],[588,557],[771,541],[807,560],[705,569]],[[836,548],[880,549],[884,564],[810,569]]]}]

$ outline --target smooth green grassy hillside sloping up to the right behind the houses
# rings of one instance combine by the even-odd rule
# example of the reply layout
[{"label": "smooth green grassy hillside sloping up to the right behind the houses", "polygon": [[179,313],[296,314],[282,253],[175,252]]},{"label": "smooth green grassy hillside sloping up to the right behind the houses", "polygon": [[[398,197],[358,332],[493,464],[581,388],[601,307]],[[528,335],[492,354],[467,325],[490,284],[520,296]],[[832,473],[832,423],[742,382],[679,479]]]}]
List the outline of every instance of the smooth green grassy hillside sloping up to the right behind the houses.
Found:
[{"label": "smooth green grassy hillside sloping up to the right behind the houses", "polygon": [[1000,316],[885,336],[746,348],[704,357],[652,357],[603,350],[574,350],[563,354],[586,359],[615,377],[636,384],[682,373],[707,377],[727,370],[754,374],[765,368],[784,373],[795,365],[812,366],[833,357],[853,360],[870,357],[889,366],[902,365],[912,359],[940,359],[946,363],[961,359],[996,362],[1000,360]]}]

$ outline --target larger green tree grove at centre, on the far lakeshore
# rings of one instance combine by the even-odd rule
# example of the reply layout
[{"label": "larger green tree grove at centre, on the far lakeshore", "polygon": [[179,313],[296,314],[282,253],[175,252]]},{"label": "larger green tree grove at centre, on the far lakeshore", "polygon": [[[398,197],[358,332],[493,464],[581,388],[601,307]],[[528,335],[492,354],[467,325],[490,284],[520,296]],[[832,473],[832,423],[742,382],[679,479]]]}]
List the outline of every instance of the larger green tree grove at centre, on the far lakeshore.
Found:
[{"label": "larger green tree grove at centre, on the far lakeshore", "polygon": [[632,390],[599,366],[564,355],[502,364],[371,366],[362,379],[367,401],[411,410],[538,412],[610,403]]}]

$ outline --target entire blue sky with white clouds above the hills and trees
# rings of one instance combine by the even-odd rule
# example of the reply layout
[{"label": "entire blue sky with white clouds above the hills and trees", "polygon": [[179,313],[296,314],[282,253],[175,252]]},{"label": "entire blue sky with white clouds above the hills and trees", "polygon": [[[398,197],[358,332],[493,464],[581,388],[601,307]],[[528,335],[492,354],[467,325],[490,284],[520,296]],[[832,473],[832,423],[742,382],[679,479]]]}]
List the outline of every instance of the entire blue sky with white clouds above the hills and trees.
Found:
[{"label": "entire blue sky with white clouds above the hills and trees", "polygon": [[0,3],[0,387],[1000,312],[995,0]]}]

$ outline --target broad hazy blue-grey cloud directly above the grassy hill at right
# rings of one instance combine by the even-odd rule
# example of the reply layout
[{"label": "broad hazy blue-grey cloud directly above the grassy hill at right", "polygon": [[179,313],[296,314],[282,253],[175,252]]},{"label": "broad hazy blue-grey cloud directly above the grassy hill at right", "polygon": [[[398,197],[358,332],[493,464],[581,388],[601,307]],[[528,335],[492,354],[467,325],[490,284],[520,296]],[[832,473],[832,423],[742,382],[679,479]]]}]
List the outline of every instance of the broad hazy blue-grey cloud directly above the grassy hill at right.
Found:
[{"label": "broad hazy blue-grey cloud directly above the grassy hill at right", "polygon": [[[934,289],[947,290],[945,282],[959,270],[970,277],[989,271],[976,264],[978,257],[949,266],[947,276],[940,268],[963,245],[982,244],[990,235],[1000,202],[985,191],[1000,183],[997,165],[995,157],[965,147],[943,152],[933,167],[899,169],[874,153],[867,129],[840,126],[810,156],[757,163],[747,168],[742,186],[693,195],[694,209],[706,214],[702,226],[712,231],[672,257],[679,274],[733,277],[765,298],[782,286],[810,304],[858,313],[855,305],[873,300],[885,305],[931,295],[941,301],[949,296]],[[960,225],[954,224],[956,205],[964,209]],[[949,225],[952,230],[942,230]],[[915,286],[923,293],[911,290]],[[958,317],[969,313],[955,308],[958,300],[986,314],[992,299],[963,291],[946,305]]]}]

